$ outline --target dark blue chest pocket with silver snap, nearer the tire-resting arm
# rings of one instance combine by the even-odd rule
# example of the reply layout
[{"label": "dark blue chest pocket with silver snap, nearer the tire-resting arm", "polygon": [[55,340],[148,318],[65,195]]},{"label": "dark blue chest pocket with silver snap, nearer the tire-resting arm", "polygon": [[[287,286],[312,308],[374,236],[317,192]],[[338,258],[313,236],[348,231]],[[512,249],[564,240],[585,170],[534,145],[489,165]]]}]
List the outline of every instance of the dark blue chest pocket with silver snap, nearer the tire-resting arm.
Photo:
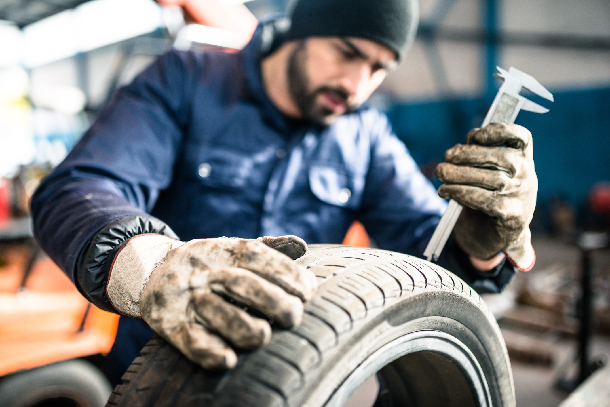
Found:
[{"label": "dark blue chest pocket with silver snap, nearer the tire-resting arm", "polygon": [[244,187],[254,166],[251,157],[228,148],[205,146],[193,158],[192,176],[209,187]]}]

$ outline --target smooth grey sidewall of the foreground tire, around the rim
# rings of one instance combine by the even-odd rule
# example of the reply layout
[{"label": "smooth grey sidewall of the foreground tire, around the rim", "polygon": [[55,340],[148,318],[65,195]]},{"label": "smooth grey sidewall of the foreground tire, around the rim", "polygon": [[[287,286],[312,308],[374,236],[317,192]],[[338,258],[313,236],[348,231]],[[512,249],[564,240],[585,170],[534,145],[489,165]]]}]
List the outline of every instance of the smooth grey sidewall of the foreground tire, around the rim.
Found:
[{"label": "smooth grey sidewall of the foreground tire, around the rim", "polygon": [[512,378],[503,373],[511,368],[493,325],[484,310],[468,298],[442,290],[398,301],[354,330],[333,355],[325,355],[315,378],[290,397],[290,405],[326,405],[346,378],[376,350],[401,336],[429,330],[449,334],[472,351],[485,373],[493,405],[511,405]]}]

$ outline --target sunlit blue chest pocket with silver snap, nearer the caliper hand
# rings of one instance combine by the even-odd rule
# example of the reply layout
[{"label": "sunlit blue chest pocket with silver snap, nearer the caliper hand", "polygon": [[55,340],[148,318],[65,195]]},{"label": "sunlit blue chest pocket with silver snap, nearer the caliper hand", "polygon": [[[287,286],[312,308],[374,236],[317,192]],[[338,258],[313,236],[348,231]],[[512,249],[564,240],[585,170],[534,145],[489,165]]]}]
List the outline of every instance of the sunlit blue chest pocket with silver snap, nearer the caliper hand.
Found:
[{"label": "sunlit blue chest pocket with silver snap, nearer the caliper hand", "polygon": [[312,164],[309,167],[309,186],[323,202],[357,210],[362,203],[364,175],[353,175],[345,168],[329,164]]}]

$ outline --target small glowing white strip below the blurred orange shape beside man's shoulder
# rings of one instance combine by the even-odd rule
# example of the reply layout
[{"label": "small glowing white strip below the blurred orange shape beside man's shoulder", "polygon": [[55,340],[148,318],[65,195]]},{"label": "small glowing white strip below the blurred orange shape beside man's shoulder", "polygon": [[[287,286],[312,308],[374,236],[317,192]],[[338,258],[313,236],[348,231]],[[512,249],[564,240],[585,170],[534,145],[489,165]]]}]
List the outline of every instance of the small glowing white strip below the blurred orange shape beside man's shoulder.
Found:
[{"label": "small glowing white strip below the blurred orange shape beside man's shoulder", "polygon": [[189,49],[193,43],[222,46],[225,48],[242,49],[250,35],[243,32],[225,30],[221,28],[201,26],[199,24],[188,24],[183,27],[176,37],[174,47],[177,49]]}]

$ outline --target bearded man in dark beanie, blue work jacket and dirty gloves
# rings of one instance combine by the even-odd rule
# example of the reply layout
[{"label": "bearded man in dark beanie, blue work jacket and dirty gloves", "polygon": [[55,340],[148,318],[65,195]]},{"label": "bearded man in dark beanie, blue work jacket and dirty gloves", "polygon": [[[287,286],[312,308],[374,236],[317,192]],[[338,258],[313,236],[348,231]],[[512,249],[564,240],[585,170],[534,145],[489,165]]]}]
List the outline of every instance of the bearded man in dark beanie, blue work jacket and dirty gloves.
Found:
[{"label": "bearded man in dark beanie, blue work jacket and dirty gloves", "polygon": [[[301,0],[287,31],[262,23],[237,54],[171,51],[118,93],[32,199],[38,242],[82,294],[143,319],[121,318],[115,347],[141,346],[148,323],[201,366],[234,366],[271,335],[243,306],[298,325],[316,282],[290,258],[355,219],[422,255],[446,203],[364,104],[404,58],[415,6]],[[492,124],[445,159],[439,193],[466,207],[439,264],[499,292],[534,262],[531,135]]]}]

